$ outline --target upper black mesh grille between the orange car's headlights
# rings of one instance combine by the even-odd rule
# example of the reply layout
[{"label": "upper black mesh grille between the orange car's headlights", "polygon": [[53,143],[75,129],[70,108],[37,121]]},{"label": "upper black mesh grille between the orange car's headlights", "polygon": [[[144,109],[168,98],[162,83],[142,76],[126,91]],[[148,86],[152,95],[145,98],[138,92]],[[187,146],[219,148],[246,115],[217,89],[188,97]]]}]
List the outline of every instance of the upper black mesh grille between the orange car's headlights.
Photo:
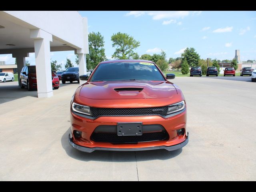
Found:
[{"label": "upper black mesh grille between the orange car's headlights", "polygon": [[160,115],[165,116],[167,106],[148,108],[94,108],[91,107],[92,116],[143,116]]}]

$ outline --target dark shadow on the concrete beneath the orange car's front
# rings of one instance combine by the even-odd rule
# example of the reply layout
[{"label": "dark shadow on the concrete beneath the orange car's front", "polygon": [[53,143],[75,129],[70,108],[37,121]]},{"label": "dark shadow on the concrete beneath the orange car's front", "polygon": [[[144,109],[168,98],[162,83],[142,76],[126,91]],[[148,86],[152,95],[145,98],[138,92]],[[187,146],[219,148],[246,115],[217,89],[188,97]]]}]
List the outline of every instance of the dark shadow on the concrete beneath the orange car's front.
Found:
[{"label": "dark shadow on the concrete beneath the orange car's front", "polygon": [[80,161],[101,161],[101,162],[136,162],[149,160],[167,160],[178,156],[182,152],[182,148],[175,151],[167,151],[164,149],[148,150],[148,151],[94,151],[86,153],[72,148],[68,142],[68,134],[70,128],[63,134],[61,138],[62,148],[71,158]]}]

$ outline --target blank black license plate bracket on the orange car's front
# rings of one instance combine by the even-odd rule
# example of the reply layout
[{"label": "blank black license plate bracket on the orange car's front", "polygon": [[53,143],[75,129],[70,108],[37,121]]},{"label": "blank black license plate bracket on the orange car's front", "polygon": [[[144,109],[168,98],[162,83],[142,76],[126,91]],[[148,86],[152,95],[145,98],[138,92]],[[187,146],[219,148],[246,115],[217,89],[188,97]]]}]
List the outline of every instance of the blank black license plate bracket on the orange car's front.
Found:
[{"label": "blank black license plate bracket on the orange car's front", "polygon": [[142,122],[117,123],[118,136],[139,136],[142,134]]}]

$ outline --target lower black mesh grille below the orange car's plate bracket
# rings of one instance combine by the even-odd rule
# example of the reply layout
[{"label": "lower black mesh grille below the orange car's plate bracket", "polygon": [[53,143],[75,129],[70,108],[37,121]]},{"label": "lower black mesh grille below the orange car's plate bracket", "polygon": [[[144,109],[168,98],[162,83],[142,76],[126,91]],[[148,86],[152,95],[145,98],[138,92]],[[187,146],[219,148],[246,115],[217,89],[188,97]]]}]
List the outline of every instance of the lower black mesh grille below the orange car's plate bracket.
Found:
[{"label": "lower black mesh grille below the orange car's plate bracket", "polygon": [[147,141],[168,140],[168,134],[165,131],[144,133],[140,136],[118,136],[117,133],[93,133],[91,139],[96,142],[109,143],[137,143]]}]

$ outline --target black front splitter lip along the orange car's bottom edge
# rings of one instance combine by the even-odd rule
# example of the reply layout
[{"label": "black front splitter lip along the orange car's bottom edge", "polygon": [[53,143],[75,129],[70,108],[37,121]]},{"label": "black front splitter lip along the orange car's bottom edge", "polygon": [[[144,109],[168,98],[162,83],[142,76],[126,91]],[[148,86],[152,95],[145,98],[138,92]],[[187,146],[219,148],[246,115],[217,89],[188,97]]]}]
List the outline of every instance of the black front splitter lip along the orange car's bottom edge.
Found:
[{"label": "black front splitter lip along the orange car's bottom edge", "polygon": [[189,139],[189,134],[186,136],[186,140],[180,144],[176,144],[173,146],[155,146],[155,147],[144,147],[144,148],[105,148],[105,147],[94,147],[94,148],[89,148],[89,147],[83,147],[80,145],[75,144],[72,141],[72,138],[70,137],[70,134],[68,134],[68,141],[70,146],[73,148],[86,152],[86,153],[91,153],[94,152],[95,150],[103,150],[103,151],[146,151],[146,150],[156,150],[156,149],[165,149],[168,151],[174,151],[177,149],[180,149],[184,147],[186,144],[188,144],[188,139]]}]

